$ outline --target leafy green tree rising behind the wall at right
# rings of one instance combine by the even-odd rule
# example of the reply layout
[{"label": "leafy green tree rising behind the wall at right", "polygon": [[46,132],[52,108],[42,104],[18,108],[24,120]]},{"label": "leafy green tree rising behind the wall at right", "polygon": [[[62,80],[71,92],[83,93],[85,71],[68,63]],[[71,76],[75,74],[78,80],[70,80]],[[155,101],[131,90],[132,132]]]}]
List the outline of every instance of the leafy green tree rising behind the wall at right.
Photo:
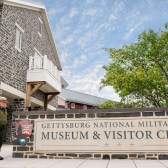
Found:
[{"label": "leafy green tree rising behind the wall at right", "polygon": [[168,107],[168,26],[139,35],[137,43],[106,49],[103,86],[113,86],[126,104]]}]

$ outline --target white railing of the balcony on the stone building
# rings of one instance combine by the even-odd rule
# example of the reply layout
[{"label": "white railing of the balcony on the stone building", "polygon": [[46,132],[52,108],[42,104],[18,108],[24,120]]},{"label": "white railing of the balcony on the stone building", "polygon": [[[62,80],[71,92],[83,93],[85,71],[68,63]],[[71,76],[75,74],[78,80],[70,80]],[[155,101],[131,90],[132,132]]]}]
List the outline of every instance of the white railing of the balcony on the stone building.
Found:
[{"label": "white railing of the balcony on the stone building", "polygon": [[29,59],[29,70],[47,70],[55,79],[60,81],[60,74],[57,67],[50,61],[47,55],[36,57],[31,56]]}]

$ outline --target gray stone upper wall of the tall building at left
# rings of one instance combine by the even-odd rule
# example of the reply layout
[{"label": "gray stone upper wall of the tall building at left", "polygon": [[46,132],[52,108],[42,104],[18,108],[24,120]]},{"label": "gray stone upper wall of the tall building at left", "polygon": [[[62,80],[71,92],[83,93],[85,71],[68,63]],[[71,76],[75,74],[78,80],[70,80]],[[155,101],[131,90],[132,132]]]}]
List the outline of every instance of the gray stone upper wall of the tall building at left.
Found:
[{"label": "gray stone upper wall of the tall building at left", "polygon": [[[39,18],[43,21],[41,12],[3,6],[0,25],[0,81],[22,92],[26,90],[29,57],[34,55],[34,48],[56,64],[45,24],[42,24],[42,36],[38,34]],[[15,49],[16,23],[24,30],[21,52]],[[37,93],[35,97],[43,99],[42,92]]]}]

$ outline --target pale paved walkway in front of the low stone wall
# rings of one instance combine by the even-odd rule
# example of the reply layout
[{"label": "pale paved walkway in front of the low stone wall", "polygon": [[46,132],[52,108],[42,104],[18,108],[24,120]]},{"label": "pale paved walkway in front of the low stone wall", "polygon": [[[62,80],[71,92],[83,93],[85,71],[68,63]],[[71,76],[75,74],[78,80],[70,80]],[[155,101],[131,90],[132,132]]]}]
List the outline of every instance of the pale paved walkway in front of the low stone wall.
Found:
[{"label": "pale paved walkway in front of the low stone wall", "polygon": [[3,146],[0,168],[168,168],[168,160],[48,160],[16,159],[11,157],[12,146]]}]

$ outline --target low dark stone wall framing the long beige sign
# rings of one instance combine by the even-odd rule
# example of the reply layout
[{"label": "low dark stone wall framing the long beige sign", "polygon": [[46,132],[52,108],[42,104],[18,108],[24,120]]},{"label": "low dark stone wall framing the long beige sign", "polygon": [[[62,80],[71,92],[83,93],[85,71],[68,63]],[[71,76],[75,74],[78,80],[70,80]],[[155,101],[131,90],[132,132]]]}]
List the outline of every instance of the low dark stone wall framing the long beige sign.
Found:
[{"label": "low dark stone wall framing the long beige sign", "polygon": [[[14,113],[13,122],[22,119],[29,119],[32,123],[36,119],[63,119],[63,118],[117,118],[117,117],[156,117],[168,116],[168,109],[117,109],[117,110],[67,110],[53,112],[23,112]],[[16,158],[48,158],[48,159],[168,159],[168,152],[104,152],[104,153],[34,153],[34,135],[28,138],[26,146],[20,146],[17,140],[14,141],[13,157]]]}]

